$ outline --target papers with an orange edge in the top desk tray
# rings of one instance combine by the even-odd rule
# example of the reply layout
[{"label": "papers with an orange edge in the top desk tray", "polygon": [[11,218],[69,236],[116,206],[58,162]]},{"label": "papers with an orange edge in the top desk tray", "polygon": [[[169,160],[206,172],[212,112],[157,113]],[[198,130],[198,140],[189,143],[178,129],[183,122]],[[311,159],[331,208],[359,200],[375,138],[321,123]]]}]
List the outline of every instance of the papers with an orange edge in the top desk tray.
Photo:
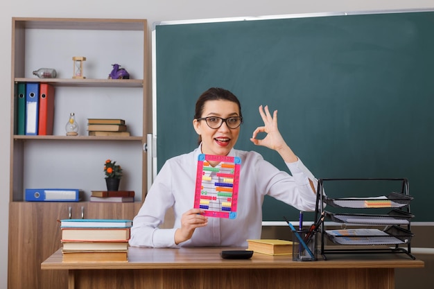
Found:
[{"label": "papers with an orange edge in the top desk tray", "polygon": [[392,192],[389,195],[372,198],[326,198],[324,202],[340,208],[400,208],[410,204],[413,197],[403,193]]}]

